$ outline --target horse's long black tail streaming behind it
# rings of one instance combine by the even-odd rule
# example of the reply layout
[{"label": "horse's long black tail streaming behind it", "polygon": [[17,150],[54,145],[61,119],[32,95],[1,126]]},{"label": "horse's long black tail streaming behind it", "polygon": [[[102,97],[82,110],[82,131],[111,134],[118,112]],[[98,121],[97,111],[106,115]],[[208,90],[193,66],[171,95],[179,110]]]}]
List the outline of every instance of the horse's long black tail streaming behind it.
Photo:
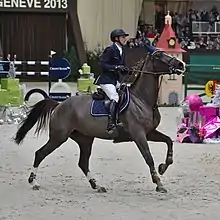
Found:
[{"label": "horse's long black tail streaming behind it", "polygon": [[15,143],[20,144],[36,123],[35,133],[39,134],[47,126],[52,111],[58,105],[59,103],[53,99],[44,99],[36,103],[28,112],[27,118],[22,121],[14,138]]}]

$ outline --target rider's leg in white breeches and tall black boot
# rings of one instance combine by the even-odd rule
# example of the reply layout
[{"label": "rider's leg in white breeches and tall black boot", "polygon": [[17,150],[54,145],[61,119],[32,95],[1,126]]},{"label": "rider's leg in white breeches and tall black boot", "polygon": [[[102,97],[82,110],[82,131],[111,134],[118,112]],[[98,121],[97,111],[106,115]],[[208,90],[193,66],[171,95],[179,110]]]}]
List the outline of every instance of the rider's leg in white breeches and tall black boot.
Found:
[{"label": "rider's leg in white breeches and tall black boot", "polygon": [[106,93],[110,99],[109,105],[109,123],[107,130],[110,131],[116,126],[116,113],[118,107],[119,96],[116,91],[116,87],[113,84],[100,85],[102,90]]}]

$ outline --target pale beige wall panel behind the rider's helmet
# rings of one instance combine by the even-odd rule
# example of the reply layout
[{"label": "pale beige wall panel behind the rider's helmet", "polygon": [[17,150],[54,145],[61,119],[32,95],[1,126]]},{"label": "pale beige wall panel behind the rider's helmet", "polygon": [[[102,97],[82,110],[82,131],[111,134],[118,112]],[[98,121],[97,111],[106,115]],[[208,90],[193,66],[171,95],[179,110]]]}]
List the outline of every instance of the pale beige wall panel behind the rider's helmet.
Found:
[{"label": "pale beige wall panel behind the rider's helmet", "polygon": [[135,37],[143,0],[80,0],[77,12],[88,50],[109,44],[109,32],[124,28]]}]

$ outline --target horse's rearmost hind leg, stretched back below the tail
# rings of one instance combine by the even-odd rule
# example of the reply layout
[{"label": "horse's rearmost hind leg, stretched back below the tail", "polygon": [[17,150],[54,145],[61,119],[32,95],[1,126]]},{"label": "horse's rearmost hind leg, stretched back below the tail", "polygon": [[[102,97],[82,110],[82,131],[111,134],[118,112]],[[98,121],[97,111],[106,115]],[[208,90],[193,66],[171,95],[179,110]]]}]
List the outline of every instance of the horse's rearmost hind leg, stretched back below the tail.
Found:
[{"label": "horse's rearmost hind leg, stretched back below the tail", "polygon": [[[61,136],[60,136],[61,137]],[[37,171],[40,163],[44,160],[46,156],[51,154],[55,149],[59,148],[61,144],[63,144],[66,139],[61,139],[60,137],[52,138],[48,140],[48,142],[41,147],[39,150],[35,152],[35,159],[34,159],[34,165],[33,170],[29,176],[28,182],[33,186],[33,189],[38,190],[40,188],[40,185],[37,182]]]}]

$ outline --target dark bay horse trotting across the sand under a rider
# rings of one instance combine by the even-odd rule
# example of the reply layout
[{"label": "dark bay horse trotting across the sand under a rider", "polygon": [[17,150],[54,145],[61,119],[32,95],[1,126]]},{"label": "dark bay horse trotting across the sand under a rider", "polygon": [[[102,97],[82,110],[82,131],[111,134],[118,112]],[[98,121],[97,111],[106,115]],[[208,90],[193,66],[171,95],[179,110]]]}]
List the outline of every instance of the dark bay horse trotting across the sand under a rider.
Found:
[{"label": "dark bay horse trotting across the sand under a rider", "polygon": [[91,95],[73,96],[60,104],[54,100],[45,99],[33,106],[17,131],[15,142],[20,144],[36,123],[36,132],[39,133],[49,122],[49,140],[36,151],[33,170],[28,179],[34,189],[39,189],[36,175],[40,163],[68,138],[71,138],[79,145],[78,165],[91,187],[98,192],[106,192],[104,187],[97,184],[89,169],[94,138],[101,138],[115,139],[116,142],[134,141],[149,166],[152,181],[157,186],[156,191],[167,192],[155,169],[148,141],[167,144],[165,163],[160,164],[158,168],[162,175],[173,163],[173,142],[170,137],[157,130],[161,119],[157,106],[160,79],[165,74],[182,74],[185,71],[185,63],[161,51],[145,56],[133,71],[136,78],[129,89],[129,105],[119,115],[123,127],[117,129],[117,136],[115,133],[106,132],[107,117],[93,117],[90,114]]}]

